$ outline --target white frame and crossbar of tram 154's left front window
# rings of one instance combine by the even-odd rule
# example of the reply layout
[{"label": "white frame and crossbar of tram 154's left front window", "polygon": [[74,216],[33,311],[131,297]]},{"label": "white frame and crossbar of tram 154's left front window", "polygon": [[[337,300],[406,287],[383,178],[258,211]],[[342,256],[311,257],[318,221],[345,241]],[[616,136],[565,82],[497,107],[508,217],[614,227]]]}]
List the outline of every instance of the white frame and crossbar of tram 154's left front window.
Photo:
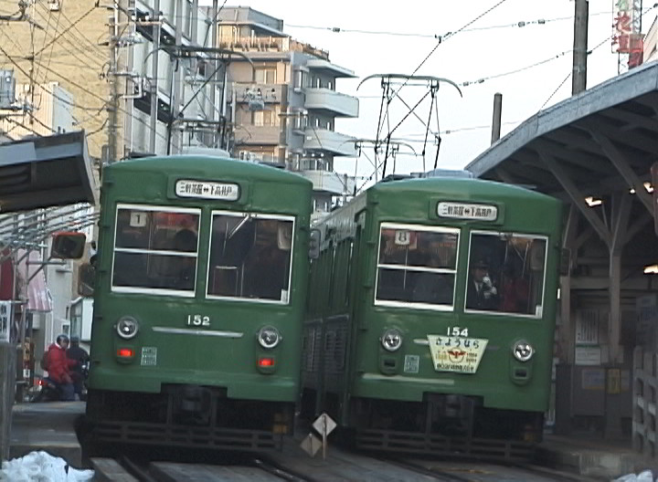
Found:
[{"label": "white frame and crossbar of tram 154's left front window", "polygon": [[[382,240],[384,238],[384,230],[394,230],[394,231],[409,231],[409,232],[414,232],[416,233],[416,247],[414,249],[418,249],[418,238],[419,235],[418,233],[433,233],[433,234],[440,234],[440,235],[446,235],[446,236],[454,236],[453,240],[453,246],[454,248],[451,250],[451,253],[446,260],[445,266],[436,266],[436,267],[430,267],[430,266],[424,266],[419,263],[413,263],[409,264],[408,261],[408,256],[409,256],[409,248],[407,248],[406,251],[406,261],[404,264],[402,263],[382,263]],[[458,227],[451,227],[451,226],[442,226],[442,225],[417,225],[417,224],[399,224],[399,223],[387,223],[383,222],[380,223],[379,225],[379,231],[378,231],[378,236],[379,240],[377,242],[377,265],[376,265],[376,278],[375,278],[375,289],[374,289],[374,304],[376,306],[387,306],[387,307],[398,307],[398,308],[412,308],[412,309],[430,309],[430,310],[435,310],[435,311],[452,311],[454,310],[455,306],[455,295],[456,295],[456,290],[457,290],[457,275],[458,275],[458,263],[459,263],[459,250],[460,250],[460,236],[462,236],[461,229]],[[411,236],[409,236],[409,246],[412,245],[412,241],[410,239]],[[423,240],[423,243],[429,242],[430,239]],[[404,245],[400,245],[404,246]],[[380,285],[381,281],[381,273],[382,269],[387,269],[389,271],[392,270],[397,270],[403,272],[403,278],[406,280],[408,274],[411,274],[410,278],[416,278],[416,282],[413,284],[414,286],[411,288],[406,288],[403,287],[404,291],[404,296],[400,296],[398,298],[404,298],[405,296],[409,296],[412,299],[390,299],[393,298],[392,296],[383,298],[381,297],[380,293],[380,288],[382,288],[383,284]],[[450,297],[450,302],[446,302],[443,299],[437,299],[435,302],[433,301],[427,301],[423,299],[419,299],[417,292],[416,292],[416,284],[419,283],[419,281],[422,278],[427,278],[427,276],[435,276],[435,275],[441,275],[441,278],[443,278],[443,281],[440,281],[440,283],[443,283],[444,286],[443,288],[450,288],[450,283],[451,283],[451,297]],[[447,278],[447,282],[445,279]],[[451,280],[450,280],[451,278]],[[410,283],[411,285],[411,283]],[[383,288],[382,288],[383,289]],[[398,288],[394,288],[398,289]],[[428,296],[426,293],[423,295],[425,297]],[[413,299],[416,298],[416,299]]]}]

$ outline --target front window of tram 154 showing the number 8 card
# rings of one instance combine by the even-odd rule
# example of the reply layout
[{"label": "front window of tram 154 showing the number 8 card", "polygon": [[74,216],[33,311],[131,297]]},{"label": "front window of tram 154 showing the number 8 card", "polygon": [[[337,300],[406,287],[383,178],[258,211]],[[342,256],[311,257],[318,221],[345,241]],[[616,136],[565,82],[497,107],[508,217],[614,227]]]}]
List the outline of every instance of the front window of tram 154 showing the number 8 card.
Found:
[{"label": "front window of tram 154 showing the number 8 card", "polygon": [[451,228],[382,224],[376,302],[451,307],[458,237]]}]

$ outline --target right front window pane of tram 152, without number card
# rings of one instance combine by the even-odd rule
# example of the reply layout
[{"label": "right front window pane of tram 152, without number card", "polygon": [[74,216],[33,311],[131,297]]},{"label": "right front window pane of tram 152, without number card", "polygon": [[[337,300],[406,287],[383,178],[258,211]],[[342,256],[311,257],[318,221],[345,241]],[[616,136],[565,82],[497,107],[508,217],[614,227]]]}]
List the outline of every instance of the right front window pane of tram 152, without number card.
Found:
[{"label": "right front window pane of tram 152, without number card", "polygon": [[292,219],[213,215],[207,294],[287,303],[292,233]]}]

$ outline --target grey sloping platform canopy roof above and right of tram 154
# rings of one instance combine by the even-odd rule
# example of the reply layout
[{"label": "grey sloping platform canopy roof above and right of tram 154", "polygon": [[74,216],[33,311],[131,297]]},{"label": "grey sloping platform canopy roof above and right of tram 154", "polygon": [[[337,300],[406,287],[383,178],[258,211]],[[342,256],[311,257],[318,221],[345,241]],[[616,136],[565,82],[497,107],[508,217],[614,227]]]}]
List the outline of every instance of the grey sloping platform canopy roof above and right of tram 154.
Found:
[{"label": "grey sloping platform canopy roof above and right of tram 154", "polygon": [[[658,161],[658,62],[541,110],[466,166],[547,194],[605,195],[650,181]],[[563,183],[562,181],[568,181]]]}]

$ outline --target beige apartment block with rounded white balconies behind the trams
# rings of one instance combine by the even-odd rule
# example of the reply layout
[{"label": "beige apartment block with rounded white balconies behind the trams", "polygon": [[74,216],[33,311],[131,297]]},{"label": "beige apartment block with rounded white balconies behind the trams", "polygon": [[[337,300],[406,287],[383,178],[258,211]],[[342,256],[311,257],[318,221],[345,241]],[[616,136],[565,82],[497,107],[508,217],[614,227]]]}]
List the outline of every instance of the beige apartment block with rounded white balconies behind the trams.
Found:
[{"label": "beige apartment block with rounded white balconies behind the trams", "polygon": [[356,156],[354,137],[334,129],[336,118],[358,117],[356,97],[336,90],[354,72],[292,39],[279,18],[246,6],[218,17],[218,47],[244,56],[228,64],[234,157],[301,173],[313,182],[315,211],[328,211],[335,196],[354,191],[354,180],[334,172],[335,157]]}]

